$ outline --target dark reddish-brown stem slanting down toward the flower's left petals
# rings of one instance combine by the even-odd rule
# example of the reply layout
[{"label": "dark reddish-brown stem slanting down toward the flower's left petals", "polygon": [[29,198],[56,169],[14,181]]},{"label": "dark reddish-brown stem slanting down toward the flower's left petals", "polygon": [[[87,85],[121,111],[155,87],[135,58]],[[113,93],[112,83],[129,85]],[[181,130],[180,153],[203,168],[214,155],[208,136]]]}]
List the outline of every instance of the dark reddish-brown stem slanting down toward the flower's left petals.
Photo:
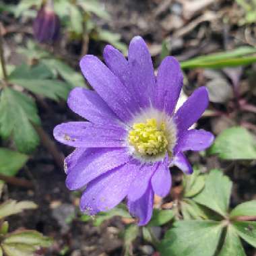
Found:
[{"label": "dark reddish-brown stem slanting down toward the flower's left petals", "polygon": [[57,150],[55,143],[50,139],[49,135],[44,131],[44,129],[42,129],[42,127],[34,125],[34,129],[36,129],[40,137],[42,146],[44,146],[44,148],[50,152],[57,166],[63,169],[65,156],[59,152],[59,150]]}]

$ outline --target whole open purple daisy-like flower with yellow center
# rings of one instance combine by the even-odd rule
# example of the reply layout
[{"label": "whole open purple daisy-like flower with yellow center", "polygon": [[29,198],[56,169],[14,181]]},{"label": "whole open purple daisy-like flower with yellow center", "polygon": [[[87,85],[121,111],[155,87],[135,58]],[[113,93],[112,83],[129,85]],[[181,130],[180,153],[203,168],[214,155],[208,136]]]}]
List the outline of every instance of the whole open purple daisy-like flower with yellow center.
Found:
[{"label": "whole open purple daisy-like flower with yellow center", "polygon": [[89,122],[57,125],[55,138],[75,147],[65,159],[67,187],[84,192],[80,208],[94,215],[127,199],[129,212],[147,224],[154,195],[171,187],[169,167],[193,172],[184,153],[205,150],[212,133],[189,129],[208,104],[201,87],[174,113],[183,73],[179,62],[166,57],[155,77],[146,43],[131,40],[128,60],[113,48],[104,49],[104,63],[93,55],[80,61],[82,73],[94,88],[75,88],[68,98],[73,112]]}]

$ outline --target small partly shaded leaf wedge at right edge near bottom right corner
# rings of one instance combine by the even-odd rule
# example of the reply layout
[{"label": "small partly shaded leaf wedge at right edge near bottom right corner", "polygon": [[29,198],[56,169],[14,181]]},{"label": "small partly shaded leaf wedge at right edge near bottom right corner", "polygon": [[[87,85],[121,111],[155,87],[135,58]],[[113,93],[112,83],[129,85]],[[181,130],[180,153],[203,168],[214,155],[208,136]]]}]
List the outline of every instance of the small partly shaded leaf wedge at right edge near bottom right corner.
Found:
[{"label": "small partly shaded leaf wedge at right edge near bottom right corner", "polygon": [[256,247],[256,222],[233,222],[233,226],[241,238]]}]

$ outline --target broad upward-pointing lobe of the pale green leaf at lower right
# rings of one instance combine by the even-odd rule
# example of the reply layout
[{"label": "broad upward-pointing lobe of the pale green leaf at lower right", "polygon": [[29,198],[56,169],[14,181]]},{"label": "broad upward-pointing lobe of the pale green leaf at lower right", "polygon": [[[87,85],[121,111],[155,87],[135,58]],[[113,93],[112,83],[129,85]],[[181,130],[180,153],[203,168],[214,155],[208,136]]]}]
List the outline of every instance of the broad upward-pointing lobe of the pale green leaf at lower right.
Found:
[{"label": "broad upward-pointing lobe of the pale green leaf at lower right", "polygon": [[193,197],[197,203],[226,216],[232,189],[232,182],[220,170],[211,170],[205,178],[205,187],[201,193]]}]

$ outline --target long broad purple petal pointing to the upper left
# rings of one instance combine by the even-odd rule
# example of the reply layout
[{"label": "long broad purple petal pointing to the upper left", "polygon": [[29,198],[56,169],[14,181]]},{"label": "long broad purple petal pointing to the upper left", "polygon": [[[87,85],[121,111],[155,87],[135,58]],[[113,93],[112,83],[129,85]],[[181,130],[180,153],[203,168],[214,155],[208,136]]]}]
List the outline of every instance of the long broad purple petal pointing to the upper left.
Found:
[{"label": "long broad purple petal pointing to the upper left", "polygon": [[131,119],[136,111],[136,102],[120,79],[97,57],[86,55],[80,61],[82,73],[115,114],[123,121]]}]

